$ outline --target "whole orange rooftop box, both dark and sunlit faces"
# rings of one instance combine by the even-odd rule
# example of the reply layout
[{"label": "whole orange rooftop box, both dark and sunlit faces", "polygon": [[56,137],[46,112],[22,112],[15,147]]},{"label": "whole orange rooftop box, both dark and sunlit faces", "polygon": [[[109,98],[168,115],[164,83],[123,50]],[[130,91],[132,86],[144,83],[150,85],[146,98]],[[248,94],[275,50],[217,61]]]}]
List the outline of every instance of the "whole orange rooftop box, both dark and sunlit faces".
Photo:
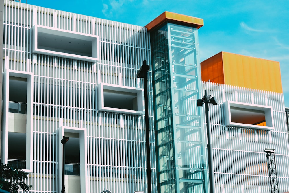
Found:
[{"label": "whole orange rooftop box, both dark and sunlit faces", "polygon": [[279,62],[220,52],[201,62],[202,80],[283,93]]}]

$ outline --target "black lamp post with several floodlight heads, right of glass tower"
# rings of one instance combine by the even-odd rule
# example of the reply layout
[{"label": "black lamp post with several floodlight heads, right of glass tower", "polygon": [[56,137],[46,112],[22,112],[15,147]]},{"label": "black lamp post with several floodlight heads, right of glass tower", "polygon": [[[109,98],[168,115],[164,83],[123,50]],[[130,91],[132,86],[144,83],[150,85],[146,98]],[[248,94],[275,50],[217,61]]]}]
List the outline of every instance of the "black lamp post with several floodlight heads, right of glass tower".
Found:
[{"label": "black lamp post with several floodlight heads, right of glass tower", "polygon": [[218,104],[218,100],[211,95],[207,95],[207,90],[205,90],[205,95],[202,99],[197,100],[198,106],[203,106],[205,103],[206,111],[206,126],[207,126],[207,140],[208,140],[208,166],[209,166],[209,181],[210,181],[210,193],[215,193],[215,176],[214,176],[214,164],[213,164],[213,149],[212,149],[212,134],[210,130],[210,120],[209,120],[209,103],[213,105]]}]

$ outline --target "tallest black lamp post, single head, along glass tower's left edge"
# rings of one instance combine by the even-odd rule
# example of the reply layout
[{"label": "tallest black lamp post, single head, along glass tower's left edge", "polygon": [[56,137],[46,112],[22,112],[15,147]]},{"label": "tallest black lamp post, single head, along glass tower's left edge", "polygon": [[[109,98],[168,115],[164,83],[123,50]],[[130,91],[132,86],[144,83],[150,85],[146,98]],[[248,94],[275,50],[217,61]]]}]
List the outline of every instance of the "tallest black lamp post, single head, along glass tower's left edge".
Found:
[{"label": "tallest black lamp post, single head, along glass tower's left edge", "polygon": [[144,60],[142,66],[138,70],[136,77],[144,78],[144,111],[145,111],[145,134],[146,134],[146,147],[147,147],[147,190],[151,193],[151,157],[150,157],[150,144],[149,144],[149,102],[147,96],[147,72],[149,71],[149,65]]}]

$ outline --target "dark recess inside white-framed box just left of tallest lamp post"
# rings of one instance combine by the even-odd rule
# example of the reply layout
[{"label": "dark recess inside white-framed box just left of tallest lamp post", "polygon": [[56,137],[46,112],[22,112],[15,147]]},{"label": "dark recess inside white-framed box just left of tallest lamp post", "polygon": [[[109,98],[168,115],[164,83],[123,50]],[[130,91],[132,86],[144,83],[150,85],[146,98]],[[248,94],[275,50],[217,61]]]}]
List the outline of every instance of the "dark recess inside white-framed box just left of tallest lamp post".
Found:
[{"label": "dark recess inside white-framed box just left of tallest lamp post", "polygon": [[105,107],[138,110],[137,93],[103,89]]}]

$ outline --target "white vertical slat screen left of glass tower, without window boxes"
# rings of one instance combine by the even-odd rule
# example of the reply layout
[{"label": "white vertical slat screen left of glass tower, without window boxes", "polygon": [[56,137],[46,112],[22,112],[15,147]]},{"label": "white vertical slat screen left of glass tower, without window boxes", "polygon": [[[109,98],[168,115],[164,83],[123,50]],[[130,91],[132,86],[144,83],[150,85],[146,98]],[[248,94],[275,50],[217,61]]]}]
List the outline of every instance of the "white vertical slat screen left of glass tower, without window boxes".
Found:
[{"label": "white vertical slat screen left of glass tower, without window boxes", "polygon": [[[98,36],[99,61],[32,53],[31,29],[35,25]],[[33,86],[28,93],[33,100],[29,134],[32,139],[26,141],[26,149],[31,150],[32,168],[24,168],[29,172],[27,183],[33,185],[31,192],[60,192],[60,140],[66,133],[78,135],[80,143],[85,143],[80,148],[87,148],[80,149],[80,157],[85,156],[83,160],[80,158],[81,192],[101,192],[104,188],[112,192],[146,191],[144,115],[97,111],[95,89],[101,83],[143,88],[143,80],[136,78],[136,74],[143,60],[148,63],[151,60],[147,29],[5,1],[3,39],[3,72],[32,76]],[[151,72],[148,78],[151,88]],[[8,77],[7,81],[10,82]],[[6,87],[8,91],[11,85]],[[151,90],[149,101],[151,155],[155,155]],[[8,108],[8,97],[5,103]],[[12,127],[8,117],[3,126],[6,137]],[[26,132],[29,139],[27,135]],[[9,159],[7,146],[2,147],[6,148],[3,163]],[[151,163],[153,191],[156,191],[154,156]]]}]

